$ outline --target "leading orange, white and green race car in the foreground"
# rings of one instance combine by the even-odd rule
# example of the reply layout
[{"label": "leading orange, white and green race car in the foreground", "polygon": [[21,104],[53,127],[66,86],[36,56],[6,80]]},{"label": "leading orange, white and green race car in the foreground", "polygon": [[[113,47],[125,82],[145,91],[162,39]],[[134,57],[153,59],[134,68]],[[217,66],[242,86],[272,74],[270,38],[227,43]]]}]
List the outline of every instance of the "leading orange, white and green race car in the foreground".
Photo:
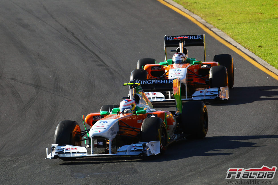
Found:
[{"label": "leading orange, white and green race car in the foreground", "polygon": [[[83,122],[90,126],[81,131],[75,121],[61,121],[56,127],[51,153],[46,159],[71,160],[77,157],[157,155],[169,144],[182,138],[204,138],[208,131],[208,111],[202,101],[189,101],[183,107],[179,79],[173,80],[176,111],[155,110],[138,83],[129,86],[130,100],[136,112],[121,112],[117,105],[102,106]],[[121,104],[120,104],[121,105]],[[88,127],[88,126],[87,126]],[[84,141],[85,140],[85,141]],[[82,141],[88,142],[86,147]],[[92,144],[91,144],[92,143]],[[89,152],[87,148],[91,148]],[[94,151],[99,151],[98,154]],[[100,152],[101,151],[101,152]]]}]

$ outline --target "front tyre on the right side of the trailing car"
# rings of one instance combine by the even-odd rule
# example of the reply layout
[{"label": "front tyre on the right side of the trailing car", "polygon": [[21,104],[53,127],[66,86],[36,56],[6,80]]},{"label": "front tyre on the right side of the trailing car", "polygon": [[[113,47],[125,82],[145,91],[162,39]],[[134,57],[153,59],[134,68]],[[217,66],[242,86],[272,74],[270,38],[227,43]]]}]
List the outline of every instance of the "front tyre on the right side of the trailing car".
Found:
[{"label": "front tyre on the right side of the trailing car", "polygon": [[210,87],[227,87],[228,75],[227,69],[223,65],[213,66],[210,68]]}]

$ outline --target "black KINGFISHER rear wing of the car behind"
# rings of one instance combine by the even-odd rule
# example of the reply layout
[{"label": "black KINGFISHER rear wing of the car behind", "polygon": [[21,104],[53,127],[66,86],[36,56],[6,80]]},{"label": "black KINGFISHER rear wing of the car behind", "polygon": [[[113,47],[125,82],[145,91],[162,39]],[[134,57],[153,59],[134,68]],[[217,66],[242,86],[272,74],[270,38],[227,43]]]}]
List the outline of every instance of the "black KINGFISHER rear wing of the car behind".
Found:
[{"label": "black KINGFISHER rear wing of the car behind", "polygon": [[[181,39],[177,39],[181,38]],[[177,36],[164,36],[164,51],[165,51],[165,62],[167,61],[166,48],[169,47],[180,47],[180,41],[182,45],[186,46],[204,46],[204,61],[206,61],[206,41],[205,34],[203,35],[177,35]],[[182,50],[180,50],[182,51]]]}]

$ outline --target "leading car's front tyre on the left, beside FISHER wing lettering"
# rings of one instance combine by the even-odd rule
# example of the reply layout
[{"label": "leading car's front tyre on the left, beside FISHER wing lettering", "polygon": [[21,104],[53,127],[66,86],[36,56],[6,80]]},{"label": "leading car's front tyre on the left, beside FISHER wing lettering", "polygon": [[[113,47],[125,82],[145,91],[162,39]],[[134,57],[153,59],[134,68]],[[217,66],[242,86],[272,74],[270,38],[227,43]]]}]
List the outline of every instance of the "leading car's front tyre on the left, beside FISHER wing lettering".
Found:
[{"label": "leading car's front tyre on the left, beside FISHER wing lettering", "polygon": [[81,146],[80,126],[75,121],[61,121],[55,130],[54,144]]}]

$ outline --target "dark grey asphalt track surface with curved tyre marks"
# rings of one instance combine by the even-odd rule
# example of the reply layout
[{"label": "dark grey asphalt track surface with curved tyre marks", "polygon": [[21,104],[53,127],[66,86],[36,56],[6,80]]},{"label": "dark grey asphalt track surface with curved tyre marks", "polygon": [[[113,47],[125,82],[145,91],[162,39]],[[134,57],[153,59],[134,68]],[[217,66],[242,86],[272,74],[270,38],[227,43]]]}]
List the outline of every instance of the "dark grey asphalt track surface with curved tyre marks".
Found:
[{"label": "dark grey asphalt track surface with curved tyre marks", "polygon": [[137,60],[163,61],[163,37],[175,34],[204,31],[155,0],[2,0],[1,184],[226,184],[228,168],[277,166],[278,81],[208,34],[207,60],[231,54],[235,85],[228,102],[206,104],[205,139],[146,159],[44,159],[58,122],[119,104]]}]

